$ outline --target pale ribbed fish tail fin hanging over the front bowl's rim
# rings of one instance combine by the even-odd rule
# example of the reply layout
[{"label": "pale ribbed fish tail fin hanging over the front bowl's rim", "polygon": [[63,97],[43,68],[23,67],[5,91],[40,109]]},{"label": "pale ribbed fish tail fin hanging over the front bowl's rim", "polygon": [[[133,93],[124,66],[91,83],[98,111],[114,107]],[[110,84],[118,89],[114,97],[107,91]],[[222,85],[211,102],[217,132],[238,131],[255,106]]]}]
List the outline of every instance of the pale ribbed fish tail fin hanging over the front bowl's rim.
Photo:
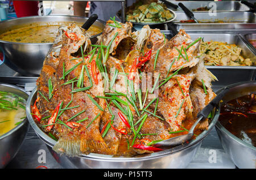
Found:
[{"label": "pale ribbed fish tail fin hanging over the front bowl's rim", "polygon": [[52,149],[57,153],[65,153],[65,155],[70,157],[82,154],[80,151],[80,140],[77,138],[61,137]]}]

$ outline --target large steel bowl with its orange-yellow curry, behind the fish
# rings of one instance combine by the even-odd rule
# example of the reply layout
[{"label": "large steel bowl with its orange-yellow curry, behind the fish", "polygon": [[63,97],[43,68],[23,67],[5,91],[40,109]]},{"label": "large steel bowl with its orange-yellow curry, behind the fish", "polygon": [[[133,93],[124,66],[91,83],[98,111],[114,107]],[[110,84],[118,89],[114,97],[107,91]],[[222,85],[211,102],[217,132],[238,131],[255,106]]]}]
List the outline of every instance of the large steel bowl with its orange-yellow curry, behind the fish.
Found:
[{"label": "large steel bowl with its orange-yellow curry, behind the fish", "polygon": [[[5,64],[25,76],[38,76],[44,58],[55,40],[60,25],[75,22],[82,25],[88,18],[68,15],[28,16],[1,22],[0,46]],[[96,20],[88,29],[92,44],[96,43],[105,22]]]}]

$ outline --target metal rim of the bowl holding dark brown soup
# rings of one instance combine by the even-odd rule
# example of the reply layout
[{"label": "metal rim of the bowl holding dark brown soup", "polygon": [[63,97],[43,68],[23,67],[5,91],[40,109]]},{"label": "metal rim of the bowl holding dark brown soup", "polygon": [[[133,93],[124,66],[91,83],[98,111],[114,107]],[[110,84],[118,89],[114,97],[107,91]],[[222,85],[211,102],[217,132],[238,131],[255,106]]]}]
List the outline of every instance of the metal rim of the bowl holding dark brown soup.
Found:
[{"label": "metal rim of the bowl holding dark brown soup", "polygon": [[[240,85],[245,85],[245,84],[256,84],[256,81],[248,81],[248,82],[240,82],[240,83],[235,83],[235,84],[231,84],[229,85],[228,87],[229,88],[235,88],[235,87],[239,87]],[[217,91],[220,92],[223,88],[219,89]],[[232,90],[232,89],[231,89]],[[234,141],[236,141],[237,143],[247,147],[247,148],[250,148],[254,151],[256,151],[256,147],[254,147],[253,145],[250,145],[246,142],[244,142],[243,140],[237,138],[237,136],[233,135],[231,132],[229,132],[224,126],[221,125],[221,123],[219,121],[216,122],[216,128],[218,128],[218,130],[224,132],[224,134],[228,135],[230,138],[232,138]]]}]

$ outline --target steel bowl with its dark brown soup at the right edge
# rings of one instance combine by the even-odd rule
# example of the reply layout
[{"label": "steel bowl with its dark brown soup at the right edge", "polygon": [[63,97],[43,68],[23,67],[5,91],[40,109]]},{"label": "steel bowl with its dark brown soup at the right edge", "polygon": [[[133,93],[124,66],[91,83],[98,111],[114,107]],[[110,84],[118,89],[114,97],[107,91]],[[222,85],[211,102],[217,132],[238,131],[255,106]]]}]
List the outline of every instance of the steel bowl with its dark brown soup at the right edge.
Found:
[{"label": "steel bowl with its dark brown soup at the right edge", "polygon": [[222,147],[234,164],[238,168],[255,169],[256,81],[236,83],[229,87],[222,98],[216,130]]}]

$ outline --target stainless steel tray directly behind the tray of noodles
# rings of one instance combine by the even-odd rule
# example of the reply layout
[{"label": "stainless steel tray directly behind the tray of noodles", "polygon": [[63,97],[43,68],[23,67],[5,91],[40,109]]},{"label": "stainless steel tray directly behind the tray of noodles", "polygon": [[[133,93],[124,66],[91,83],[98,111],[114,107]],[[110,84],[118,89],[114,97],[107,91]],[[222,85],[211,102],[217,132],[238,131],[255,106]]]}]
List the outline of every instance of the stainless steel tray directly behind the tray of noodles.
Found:
[{"label": "stainless steel tray directly behind the tray of noodles", "polygon": [[[194,12],[195,18],[203,23],[180,23],[180,20],[190,19],[184,12],[176,12],[176,15],[177,18],[172,23],[177,29],[186,31],[216,31],[216,29],[256,31],[256,18],[253,12],[216,12],[216,16],[210,16],[208,12]],[[213,23],[217,20],[223,20],[226,23]]]}]

